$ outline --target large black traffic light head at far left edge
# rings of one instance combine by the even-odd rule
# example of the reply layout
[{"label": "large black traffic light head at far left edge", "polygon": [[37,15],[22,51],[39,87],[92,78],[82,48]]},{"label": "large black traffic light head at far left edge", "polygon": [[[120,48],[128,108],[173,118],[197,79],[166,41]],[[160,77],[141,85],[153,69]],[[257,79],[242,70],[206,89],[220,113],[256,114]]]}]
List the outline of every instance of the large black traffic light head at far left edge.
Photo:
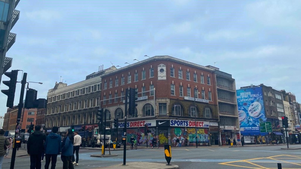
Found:
[{"label": "large black traffic light head at far left edge", "polygon": [[3,81],[3,84],[8,86],[8,90],[1,90],[2,93],[7,95],[6,107],[12,108],[14,107],[14,98],[18,77],[18,70],[12,70],[11,72],[4,72],[4,74],[9,77],[10,81]]}]

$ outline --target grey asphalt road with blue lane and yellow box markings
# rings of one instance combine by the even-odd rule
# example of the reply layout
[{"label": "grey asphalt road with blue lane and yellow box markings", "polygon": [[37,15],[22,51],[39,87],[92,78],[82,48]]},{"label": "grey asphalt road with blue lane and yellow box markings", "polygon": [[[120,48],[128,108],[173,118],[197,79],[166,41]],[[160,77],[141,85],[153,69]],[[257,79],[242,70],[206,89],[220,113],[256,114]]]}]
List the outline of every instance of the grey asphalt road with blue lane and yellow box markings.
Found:
[{"label": "grey asphalt road with blue lane and yellow box markings", "polygon": [[[199,148],[172,148],[171,164],[178,165],[181,169],[239,169],[239,168],[277,168],[277,163],[282,168],[301,169],[301,150],[284,150],[286,145],[257,146],[257,147],[199,147]],[[290,145],[290,148],[301,148],[301,145]],[[98,150],[80,149],[79,166],[76,169],[105,167],[123,163],[123,151],[112,151],[116,157],[96,158],[92,154],[101,154]],[[108,152],[106,151],[106,154]],[[126,162],[145,161],[166,163],[163,149],[127,150]],[[16,158],[15,168],[29,168],[29,157]],[[45,161],[42,162],[42,166]],[[57,168],[63,163],[60,156],[57,158]],[[5,158],[2,168],[9,168],[10,158]],[[43,168],[43,167],[42,167]]]}]

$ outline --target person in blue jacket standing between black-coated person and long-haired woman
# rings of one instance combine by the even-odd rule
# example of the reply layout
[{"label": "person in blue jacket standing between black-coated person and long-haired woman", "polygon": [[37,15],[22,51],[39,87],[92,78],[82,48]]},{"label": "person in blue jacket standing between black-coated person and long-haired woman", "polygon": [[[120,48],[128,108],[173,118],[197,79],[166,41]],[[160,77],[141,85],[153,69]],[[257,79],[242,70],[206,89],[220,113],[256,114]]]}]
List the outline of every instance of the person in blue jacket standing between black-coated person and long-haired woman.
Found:
[{"label": "person in blue jacket standing between black-coated person and long-haired woman", "polygon": [[62,138],[56,134],[58,127],[52,127],[52,133],[50,133],[45,141],[45,169],[49,168],[51,161],[51,169],[55,169],[57,162],[57,155],[61,152]]}]

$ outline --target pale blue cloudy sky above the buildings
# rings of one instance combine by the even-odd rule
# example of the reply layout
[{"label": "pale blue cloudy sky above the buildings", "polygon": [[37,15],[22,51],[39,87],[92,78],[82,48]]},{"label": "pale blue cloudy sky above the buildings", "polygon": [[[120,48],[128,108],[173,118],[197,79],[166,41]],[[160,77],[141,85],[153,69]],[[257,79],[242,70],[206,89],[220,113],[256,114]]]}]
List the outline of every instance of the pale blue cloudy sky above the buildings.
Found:
[{"label": "pale blue cloudy sky above the buildings", "polygon": [[[232,75],[236,88],[261,83],[301,99],[300,1],[20,1],[7,52],[10,70],[47,98],[110,66],[169,55]],[[21,81],[21,72],[18,81]],[[5,75],[2,80],[9,80]],[[4,84],[1,89],[7,89]],[[17,84],[14,104],[19,103]],[[24,94],[25,99],[25,94]],[[0,115],[7,96],[0,93]]]}]

